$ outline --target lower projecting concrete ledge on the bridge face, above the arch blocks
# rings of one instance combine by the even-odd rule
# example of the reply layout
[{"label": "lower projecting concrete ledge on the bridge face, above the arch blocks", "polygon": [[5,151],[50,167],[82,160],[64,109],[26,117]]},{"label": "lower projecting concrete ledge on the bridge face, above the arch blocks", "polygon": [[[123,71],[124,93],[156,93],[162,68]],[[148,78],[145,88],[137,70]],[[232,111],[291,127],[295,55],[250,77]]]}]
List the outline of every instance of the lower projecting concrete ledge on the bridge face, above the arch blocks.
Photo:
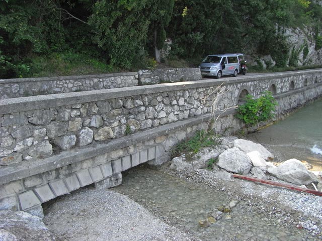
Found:
[{"label": "lower projecting concrete ledge on the bridge face, above the arch blocks", "polygon": [[[221,115],[228,115],[233,112],[234,110],[230,109]],[[205,122],[209,117],[210,114],[205,114],[203,116],[185,119],[183,121],[174,122],[143,132],[134,133],[129,136],[113,139],[108,143],[93,143],[85,147],[77,147],[64,151],[46,159],[24,161],[12,166],[2,167],[0,168],[0,185],[103,155],[107,150],[111,152],[139,142],[148,141],[159,136],[183,130],[187,127],[198,125],[202,121]]]}]

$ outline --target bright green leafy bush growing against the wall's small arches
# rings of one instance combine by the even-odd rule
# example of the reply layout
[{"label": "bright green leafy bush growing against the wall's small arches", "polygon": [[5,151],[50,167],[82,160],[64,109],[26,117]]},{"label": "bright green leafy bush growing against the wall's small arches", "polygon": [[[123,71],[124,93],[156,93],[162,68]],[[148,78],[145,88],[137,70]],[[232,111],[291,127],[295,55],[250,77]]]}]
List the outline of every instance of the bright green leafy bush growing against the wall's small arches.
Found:
[{"label": "bright green leafy bush growing against the wall's small arches", "polygon": [[273,111],[277,101],[270,91],[263,92],[258,99],[254,99],[252,95],[248,94],[245,101],[244,104],[238,106],[235,116],[244,121],[246,125],[253,126],[274,117]]}]

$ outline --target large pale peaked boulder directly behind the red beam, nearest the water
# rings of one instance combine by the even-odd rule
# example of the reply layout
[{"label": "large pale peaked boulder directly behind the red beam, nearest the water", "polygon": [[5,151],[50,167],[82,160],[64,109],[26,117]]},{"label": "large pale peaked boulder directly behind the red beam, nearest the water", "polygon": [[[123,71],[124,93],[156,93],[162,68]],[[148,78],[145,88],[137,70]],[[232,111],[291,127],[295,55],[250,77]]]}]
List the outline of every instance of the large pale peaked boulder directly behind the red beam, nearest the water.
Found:
[{"label": "large pale peaked boulder directly behind the red beam, nearest the water", "polygon": [[316,176],[308,171],[303,163],[296,159],[290,159],[278,167],[271,167],[267,170],[278,179],[297,185],[307,185],[317,181]]}]

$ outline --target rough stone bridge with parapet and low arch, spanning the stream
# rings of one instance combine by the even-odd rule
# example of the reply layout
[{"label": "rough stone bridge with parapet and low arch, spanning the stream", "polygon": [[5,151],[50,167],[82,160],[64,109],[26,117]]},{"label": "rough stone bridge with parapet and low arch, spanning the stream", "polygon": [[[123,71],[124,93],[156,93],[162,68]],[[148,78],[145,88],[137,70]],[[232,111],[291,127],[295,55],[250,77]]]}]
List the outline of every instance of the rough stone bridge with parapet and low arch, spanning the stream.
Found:
[{"label": "rough stone bridge with parapet and low arch, spanning the stream", "polygon": [[321,96],[322,69],[2,99],[0,209],[41,216],[41,204],[55,197],[119,185],[129,168],[168,161],[215,109],[221,115],[211,128],[240,130],[233,106],[265,90],[280,116]]}]

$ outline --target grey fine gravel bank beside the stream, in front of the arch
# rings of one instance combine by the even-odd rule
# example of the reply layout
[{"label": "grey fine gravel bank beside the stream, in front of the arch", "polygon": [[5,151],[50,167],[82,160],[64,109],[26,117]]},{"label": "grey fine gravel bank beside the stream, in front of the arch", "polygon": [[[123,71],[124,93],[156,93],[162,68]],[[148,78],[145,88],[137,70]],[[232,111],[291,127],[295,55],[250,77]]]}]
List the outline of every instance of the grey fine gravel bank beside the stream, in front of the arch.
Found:
[{"label": "grey fine gravel bank beside the stream, in front of the arch", "polygon": [[56,240],[197,241],[111,190],[83,188],[48,202],[43,219]]}]

